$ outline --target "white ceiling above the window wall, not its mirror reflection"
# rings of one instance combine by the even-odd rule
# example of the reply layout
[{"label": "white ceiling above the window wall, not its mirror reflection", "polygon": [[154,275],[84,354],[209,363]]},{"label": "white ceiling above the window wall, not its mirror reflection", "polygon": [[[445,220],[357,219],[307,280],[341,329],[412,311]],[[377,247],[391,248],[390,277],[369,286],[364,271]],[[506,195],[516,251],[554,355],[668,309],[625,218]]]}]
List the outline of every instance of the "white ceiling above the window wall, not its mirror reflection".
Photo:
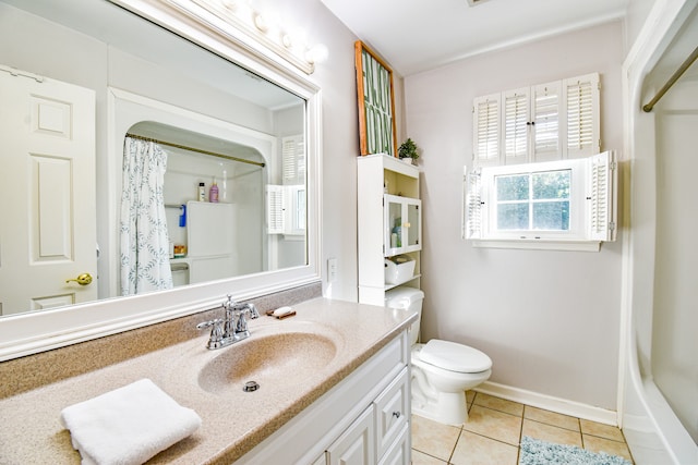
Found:
[{"label": "white ceiling above the window wall, not its mirror reflection", "polygon": [[322,0],[402,76],[625,16],[630,0]]}]

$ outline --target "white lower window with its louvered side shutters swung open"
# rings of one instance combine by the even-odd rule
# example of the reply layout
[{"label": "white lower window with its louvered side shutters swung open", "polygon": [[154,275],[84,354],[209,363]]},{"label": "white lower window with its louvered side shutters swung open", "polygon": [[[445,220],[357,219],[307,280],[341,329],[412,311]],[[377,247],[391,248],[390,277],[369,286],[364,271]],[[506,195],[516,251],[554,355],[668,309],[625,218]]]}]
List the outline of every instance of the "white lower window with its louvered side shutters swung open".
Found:
[{"label": "white lower window with its louvered side shutters swung open", "polygon": [[610,151],[479,168],[466,175],[464,236],[476,246],[598,250],[615,240],[615,184]]}]

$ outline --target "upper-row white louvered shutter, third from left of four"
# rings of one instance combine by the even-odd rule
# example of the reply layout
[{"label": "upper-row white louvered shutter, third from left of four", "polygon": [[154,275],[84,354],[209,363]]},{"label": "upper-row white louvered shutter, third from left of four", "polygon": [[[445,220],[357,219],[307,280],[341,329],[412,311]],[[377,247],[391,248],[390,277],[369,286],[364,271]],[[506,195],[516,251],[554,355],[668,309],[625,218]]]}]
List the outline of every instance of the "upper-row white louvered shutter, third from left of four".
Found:
[{"label": "upper-row white louvered shutter, third from left of four", "polygon": [[561,82],[533,88],[533,160],[549,161],[562,157],[559,133],[562,114]]}]

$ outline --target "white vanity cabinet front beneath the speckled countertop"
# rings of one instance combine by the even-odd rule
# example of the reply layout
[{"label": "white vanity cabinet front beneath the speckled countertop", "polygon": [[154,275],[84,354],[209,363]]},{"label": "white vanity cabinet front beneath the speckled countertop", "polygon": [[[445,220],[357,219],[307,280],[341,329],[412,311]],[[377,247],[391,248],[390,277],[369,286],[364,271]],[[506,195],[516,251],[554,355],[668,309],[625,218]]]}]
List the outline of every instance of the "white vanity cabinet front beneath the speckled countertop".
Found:
[{"label": "white vanity cabinet front beneath the speckled countertop", "polygon": [[236,464],[409,465],[407,331]]}]

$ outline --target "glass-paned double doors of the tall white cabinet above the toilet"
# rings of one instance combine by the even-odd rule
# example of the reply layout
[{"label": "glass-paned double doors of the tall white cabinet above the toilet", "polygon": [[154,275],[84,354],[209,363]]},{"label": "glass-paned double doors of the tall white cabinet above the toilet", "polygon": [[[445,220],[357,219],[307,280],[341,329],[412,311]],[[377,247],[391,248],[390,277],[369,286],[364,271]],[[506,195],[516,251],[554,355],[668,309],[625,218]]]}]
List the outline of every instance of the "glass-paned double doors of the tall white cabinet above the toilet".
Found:
[{"label": "glass-paned double doors of the tall white cabinet above the toilet", "polygon": [[422,200],[386,194],[383,199],[386,257],[422,249]]}]

